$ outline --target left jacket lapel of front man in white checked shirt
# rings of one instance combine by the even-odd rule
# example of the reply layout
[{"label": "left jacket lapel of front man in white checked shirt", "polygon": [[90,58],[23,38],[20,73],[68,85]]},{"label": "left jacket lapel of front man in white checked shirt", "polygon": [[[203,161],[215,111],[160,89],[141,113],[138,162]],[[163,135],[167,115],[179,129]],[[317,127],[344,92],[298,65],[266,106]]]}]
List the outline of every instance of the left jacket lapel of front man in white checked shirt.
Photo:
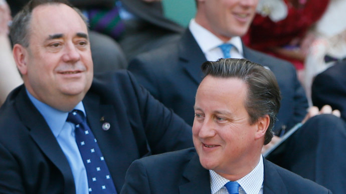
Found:
[{"label": "left jacket lapel of front man in white checked shirt", "polygon": [[211,193],[209,171],[201,165],[197,153],[187,164],[183,176],[188,179],[188,182],[179,186],[180,194]]}]

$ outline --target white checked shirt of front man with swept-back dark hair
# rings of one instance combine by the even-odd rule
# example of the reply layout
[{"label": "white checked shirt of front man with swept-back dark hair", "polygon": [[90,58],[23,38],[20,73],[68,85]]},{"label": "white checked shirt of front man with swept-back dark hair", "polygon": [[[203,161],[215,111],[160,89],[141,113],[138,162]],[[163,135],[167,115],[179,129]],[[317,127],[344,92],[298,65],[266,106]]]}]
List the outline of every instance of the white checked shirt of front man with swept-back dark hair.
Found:
[{"label": "white checked shirt of front man with swept-back dark hair", "polygon": [[[212,194],[229,194],[224,186],[228,179],[222,177],[214,170],[209,170]],[[263,158],[262,155],[256,167],[247,175],[237,180],[240,184],[239,194],[263,194]]]}]

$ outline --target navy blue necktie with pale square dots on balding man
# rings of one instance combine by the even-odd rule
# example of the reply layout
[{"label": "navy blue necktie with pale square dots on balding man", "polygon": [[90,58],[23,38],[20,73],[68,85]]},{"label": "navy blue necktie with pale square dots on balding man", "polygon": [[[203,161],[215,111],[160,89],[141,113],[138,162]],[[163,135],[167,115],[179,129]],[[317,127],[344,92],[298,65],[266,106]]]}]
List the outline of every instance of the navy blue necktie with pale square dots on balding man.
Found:
[{"label": "navy blue necktie with pale square dots on balding man", "polygon": [[76,142],[88,176],[89,193],[117,193],[107,164],[84,113],[74,109],[69,112],[68,122],[75,124]]}]

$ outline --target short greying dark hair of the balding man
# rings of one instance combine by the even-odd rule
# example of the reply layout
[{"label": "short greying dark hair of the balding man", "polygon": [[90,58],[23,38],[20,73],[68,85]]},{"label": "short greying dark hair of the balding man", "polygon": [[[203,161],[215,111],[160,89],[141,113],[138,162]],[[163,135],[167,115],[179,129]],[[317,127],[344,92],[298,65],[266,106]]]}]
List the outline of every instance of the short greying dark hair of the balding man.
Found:
[{"label": "short greying dark hair of the balding man", "polygon": [[[29,46],[29,35],[30,35],[30,22],[32,17],[33,9],[39,5],[44,4],[66,4],[72,7],[82,17],[85,24],[88,26],[88,22],[83,13],[76,7],[74,7],[67,0],[30,0],[21,11],[19,11],[13,19],[10,35],[13,44],[21,44],[24,47]],[[52,13],[54,14],[54,13]]]}]

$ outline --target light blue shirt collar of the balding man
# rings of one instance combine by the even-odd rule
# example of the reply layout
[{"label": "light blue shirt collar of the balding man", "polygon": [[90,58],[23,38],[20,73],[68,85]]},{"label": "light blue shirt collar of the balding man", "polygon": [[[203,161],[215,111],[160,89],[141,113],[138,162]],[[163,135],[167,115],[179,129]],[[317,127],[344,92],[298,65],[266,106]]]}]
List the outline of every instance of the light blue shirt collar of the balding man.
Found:
[{"label": "light blue shirt collar of the balding man", "polygon": [[[26,89],[29,99],[33,102],[35,107],[39,110],[42,116],[45,118],[48,126],[51,128],[55,137],[57,137],[66,122],[68,112],[64,112],[53,108],[52,106],[43,103],[42,101],[36,99],[29,91]],[[86,116],[83,102],[80,101],[74,109],[81,110]]]}]

